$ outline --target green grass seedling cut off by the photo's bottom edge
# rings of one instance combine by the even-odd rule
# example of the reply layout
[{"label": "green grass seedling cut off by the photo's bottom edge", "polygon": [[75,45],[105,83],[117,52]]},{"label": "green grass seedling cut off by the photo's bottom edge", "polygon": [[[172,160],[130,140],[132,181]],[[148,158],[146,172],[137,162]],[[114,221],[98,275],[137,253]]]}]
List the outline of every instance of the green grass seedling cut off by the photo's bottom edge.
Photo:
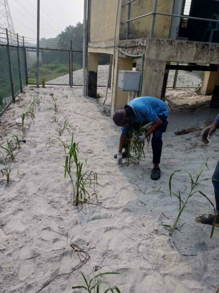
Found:
[{"label": "green grass seedling cut off by the photo's bottom edge", "polygon": [[[105,281],[101,281],[100,277],[104,276],[104,275],[111,275],[111,274],[114,274],[114,275],[118,275],[119,273],[114,273],[114,272],[107,272],[107,273],[101,273],[101,274],[98,274],[96,276],[94,276],[89,282],[88,280],[86,279],[86,277],[84,276],[84,274],[81,272],[81,275],[83,276],[84,278],[84,282],[86,284],[86,287],[85,286],[74,286],[72,287],[72,289],[85,289],[86,291],[88,291],[88,293],[92,293],[92,292],[96,292],[96,293],[100,293],[100,285],[101,284],[108,284],[108,282],[105,282]],[[95,288],[96,288],[96,291],[95,291]],[[104,291],[104,293],[107,293],[107,292],[112,292],[114,293],[114,290],[116,290],[115,292],[118,292],[118,293],[121,293],[119,291],[119,288],[117,286],[113,286],[113,287],[109,287],[108,289],[106,289]]]}]

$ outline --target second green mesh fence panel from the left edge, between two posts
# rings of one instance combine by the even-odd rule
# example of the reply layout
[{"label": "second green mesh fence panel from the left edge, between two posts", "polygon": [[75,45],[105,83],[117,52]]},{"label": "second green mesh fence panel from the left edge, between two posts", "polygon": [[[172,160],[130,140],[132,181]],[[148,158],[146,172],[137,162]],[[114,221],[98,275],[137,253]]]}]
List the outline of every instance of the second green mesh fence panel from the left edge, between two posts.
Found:
[{"label": "second green mesh fence panel from the left edge, between two posts", "polygon": [[14,93],[15,96],[20,93],[20,76],[19,76],[19,63],[18,63],[18,48],[10,47],[11,54],[11,67],[13,73]]}]

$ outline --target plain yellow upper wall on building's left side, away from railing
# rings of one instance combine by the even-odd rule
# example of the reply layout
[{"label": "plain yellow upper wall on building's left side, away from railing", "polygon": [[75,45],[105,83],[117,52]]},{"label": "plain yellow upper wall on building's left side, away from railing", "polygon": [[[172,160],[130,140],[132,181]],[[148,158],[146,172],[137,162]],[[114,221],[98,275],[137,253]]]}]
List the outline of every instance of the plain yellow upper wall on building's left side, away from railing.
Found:
[{"label": "plain yellow upper wall on building's left side, away from railing", "polygon": [[91,0],[89,42],[114,40],[117,0]]}]

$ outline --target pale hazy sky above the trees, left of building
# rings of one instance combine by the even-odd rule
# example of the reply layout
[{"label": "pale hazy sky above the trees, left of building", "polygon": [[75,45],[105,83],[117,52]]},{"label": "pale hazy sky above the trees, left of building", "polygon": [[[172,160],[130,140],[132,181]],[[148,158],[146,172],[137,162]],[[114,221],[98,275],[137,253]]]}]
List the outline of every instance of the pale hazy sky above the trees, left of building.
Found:
[{"label": "pale hazy sky above the trees, left of building", "polygon": [[[8,0],[15,33],[36,39],[37,0]],[[40,38],[83,21],[84,0],[40,0]]]}]

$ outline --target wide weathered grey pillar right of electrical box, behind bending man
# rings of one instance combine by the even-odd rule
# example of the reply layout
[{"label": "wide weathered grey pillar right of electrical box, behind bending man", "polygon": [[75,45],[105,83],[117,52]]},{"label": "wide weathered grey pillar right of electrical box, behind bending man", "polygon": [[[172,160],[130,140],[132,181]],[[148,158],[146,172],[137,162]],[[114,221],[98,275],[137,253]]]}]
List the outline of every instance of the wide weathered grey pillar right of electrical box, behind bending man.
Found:
[{"label": "wide weathered grey pillar right of electrical box, behind bending man", "polygon": [[166,61],[144,60],[141,96],[161,98]]}]

